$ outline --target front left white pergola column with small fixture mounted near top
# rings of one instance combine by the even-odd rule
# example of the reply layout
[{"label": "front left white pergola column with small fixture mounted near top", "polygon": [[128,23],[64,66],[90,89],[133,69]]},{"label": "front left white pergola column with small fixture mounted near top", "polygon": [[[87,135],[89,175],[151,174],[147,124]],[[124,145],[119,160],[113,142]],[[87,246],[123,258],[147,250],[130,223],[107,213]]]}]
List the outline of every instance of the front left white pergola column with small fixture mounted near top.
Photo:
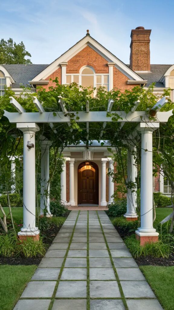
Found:
[{"label": "front left white pergola column with small fixture mounted near top", "polygon": [[39,239],[36,227],[36,179],[35,179],[35,133],[39,131],[36,123],[17,123],[17,128],[23,131],[23,227],[18,232],[20,239],[27,236]]}]

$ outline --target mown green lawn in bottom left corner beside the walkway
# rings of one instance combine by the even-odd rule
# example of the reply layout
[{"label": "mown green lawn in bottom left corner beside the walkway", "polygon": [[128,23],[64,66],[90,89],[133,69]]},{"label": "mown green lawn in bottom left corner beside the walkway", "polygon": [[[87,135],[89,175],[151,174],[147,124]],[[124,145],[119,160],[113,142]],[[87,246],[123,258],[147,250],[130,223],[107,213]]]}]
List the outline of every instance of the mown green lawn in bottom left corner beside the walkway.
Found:
[{"label": "mown green lawn in bottom left corner beside the walkway", "polygon": [[0,267],[0,296],[2,310],[12,310],[20,298],[25,286],[36,270],[36,265]]}]

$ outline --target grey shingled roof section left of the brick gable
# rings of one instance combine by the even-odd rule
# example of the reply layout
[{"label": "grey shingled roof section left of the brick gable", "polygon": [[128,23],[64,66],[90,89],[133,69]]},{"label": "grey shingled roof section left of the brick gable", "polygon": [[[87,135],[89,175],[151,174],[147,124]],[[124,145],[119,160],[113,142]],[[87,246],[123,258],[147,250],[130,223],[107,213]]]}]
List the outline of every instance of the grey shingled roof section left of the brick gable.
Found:
[{"label": "grey shingled roof section left of the brick gable", "polygon": [[28,81],[33,80],[37,74],[42,72],[48,64],[3,64],[15,83],[12,88],[20,88],[21,85],[31,86]]}]

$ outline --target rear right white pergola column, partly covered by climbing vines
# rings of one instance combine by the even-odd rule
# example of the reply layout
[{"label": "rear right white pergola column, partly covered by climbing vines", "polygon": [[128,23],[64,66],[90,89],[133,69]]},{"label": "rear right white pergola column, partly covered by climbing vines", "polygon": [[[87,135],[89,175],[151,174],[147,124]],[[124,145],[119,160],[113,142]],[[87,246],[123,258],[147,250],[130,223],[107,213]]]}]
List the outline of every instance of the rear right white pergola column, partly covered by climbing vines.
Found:
[{"label": "rear right white pergola column, partly covered by climbing vines", "polygon": [[135,184],[134,188],[127,188],[127,212],[124,217],[128,221],[135,221],[138,219],[136,212],[137,208],[137,167],[135,163],[135,157],[133,152],[136,150],[135,146],[129,145],[127,154],[127,182],[133,182]]}]

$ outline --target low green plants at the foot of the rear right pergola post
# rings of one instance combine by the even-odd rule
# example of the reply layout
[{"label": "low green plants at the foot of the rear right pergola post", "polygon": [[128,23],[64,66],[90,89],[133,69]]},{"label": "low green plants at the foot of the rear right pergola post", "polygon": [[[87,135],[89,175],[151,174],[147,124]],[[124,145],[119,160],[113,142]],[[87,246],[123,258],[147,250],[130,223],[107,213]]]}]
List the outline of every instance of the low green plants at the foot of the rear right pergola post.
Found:
[{"label": "low green plants at the foot of the rear right pergola post", "polygon": [[116,217],[111,222],[120,234],[124,236],[132,234],[139,226],[138,221],[127,221],[124,217]]}]

